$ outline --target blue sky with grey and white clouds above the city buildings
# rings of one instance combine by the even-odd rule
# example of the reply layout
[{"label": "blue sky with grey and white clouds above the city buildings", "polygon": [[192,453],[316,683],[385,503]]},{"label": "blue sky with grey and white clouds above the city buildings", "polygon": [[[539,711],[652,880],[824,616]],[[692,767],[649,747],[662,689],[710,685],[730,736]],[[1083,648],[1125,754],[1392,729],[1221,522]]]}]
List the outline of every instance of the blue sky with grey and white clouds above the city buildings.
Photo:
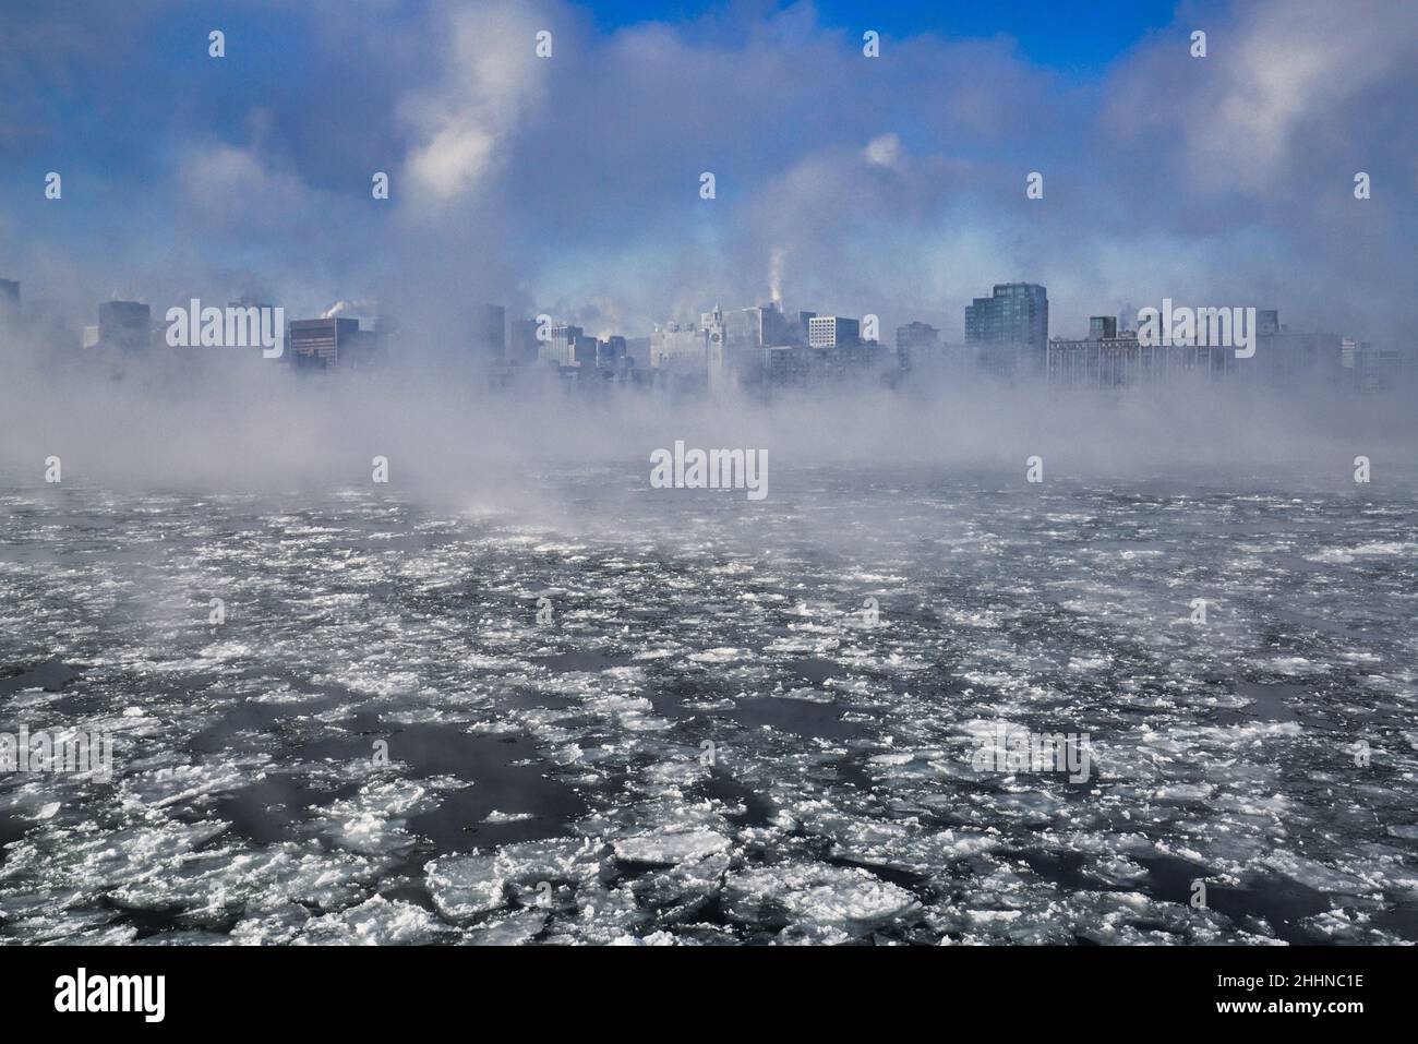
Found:
[{"label": "blue sky with grey and white clouds above the city buildings", "polygon": [[1085,7],[7,0],[0,277],[430,340],[478,299],[634,336],[774,294],[959,338],[1010,279],[1056,333],[1171,296],[1411,336],[1415,7]]}]

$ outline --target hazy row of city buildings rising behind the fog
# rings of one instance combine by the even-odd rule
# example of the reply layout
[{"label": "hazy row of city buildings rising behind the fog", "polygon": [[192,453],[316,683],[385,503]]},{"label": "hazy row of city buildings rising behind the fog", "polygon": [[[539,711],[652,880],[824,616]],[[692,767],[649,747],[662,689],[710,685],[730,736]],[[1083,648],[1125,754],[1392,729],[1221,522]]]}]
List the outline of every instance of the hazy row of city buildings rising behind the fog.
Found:
[{"label": "hazy row of city buildings rising behind the fog", "polygon": [[[164,325],[152,318],[145,302],[108,301],[98,306],[98,325],[82,328],[82,348],[111,349],[111,355],[95,356],[104,355],[108,376],[119,379],[125,376],[123,360],[136,362],[146,349],[163,343],[180,349],[261,348],[262,357],[285,356],[302,370],[400,365],[397,321],[376,312],[363,316],[366,326],[357,315],[364,309],[356,308],[350,316],[343,313],[347,306],[342,299],[319,318],[286,319],[284,308],[247,296],[224,309],[191,299],[189,306],[167,309]],[[715,305],[698,323],[657,322],[648,336],[587,336],[583,328],[547,313],[509,319],[506,306],[486,304],[469,309],[465,362],[474,373],[488,372],[493,387],[510,386],[518,372],[550,367],[563,377],[584,379],[594,372],[621,382],[672,380],[682,390],[698,382],[716,397],[864,377],[891,386],[997,377],[1126,389],[1244,376],[1252,387],[1300,382],[1383,392],[1411,390],[1418,376],[1412,348],[1374,345],[1324,329],[1293,331],[1275,308],[1178,306],[1176,313],[1176,340],[1170,299],[1161,309],[1139,309],[1134,318],[1090,315],[1086,335],[1065,336],[1049,329],[1045,287],[1004,282],[966,306],[964,336],[953,342],[920,321],[898,326],[895,338],[888,338],[872,313],[848,318],[800,311],[794,319],[771,301],[727,311]],[[38,326],[40,333],[30,326]],[[62,332],[52,315],[26,313],[17,279],[0,279],[0,332],[37,342],[38,355],[31,360],[41,366],[45,359],[51,365],[77,360],[74,332]],[[1259,362],[1249,363],[1262,348]],[[1232,352],[1254,369],[1238,369]]]}]

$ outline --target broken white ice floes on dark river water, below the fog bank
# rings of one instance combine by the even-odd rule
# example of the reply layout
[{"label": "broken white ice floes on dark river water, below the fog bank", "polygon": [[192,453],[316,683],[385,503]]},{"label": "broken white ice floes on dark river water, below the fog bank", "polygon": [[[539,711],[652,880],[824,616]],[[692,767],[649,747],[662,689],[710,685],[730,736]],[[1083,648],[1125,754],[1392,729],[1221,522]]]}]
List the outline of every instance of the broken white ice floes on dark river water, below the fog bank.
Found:
[{"label": "broken white ice floes on dark river water, below the fog bank", "polygon": [[[883,526],[842,471],[744,539],[597,501],[607,474],[553,477],[604,505],[574,533],[347,489],[210,498],[155,542],[180,495],[75,488],[92,553],[58,572],[62,532],[17,513],[14,674],[69,674],[16,695],[130,742],[108,787],[0,786],[0,938],[1414,940],[1412,559],[1357,552],[1411,543],[1408,501],[1075,487],[1031,513],[900,475]],[[248,610],[213,634],[172,593],[217,573]],[[1204,631],[1177,623],[1201,580]],[[1089,732],[1088,783],[974,772],[998,718]]]}]

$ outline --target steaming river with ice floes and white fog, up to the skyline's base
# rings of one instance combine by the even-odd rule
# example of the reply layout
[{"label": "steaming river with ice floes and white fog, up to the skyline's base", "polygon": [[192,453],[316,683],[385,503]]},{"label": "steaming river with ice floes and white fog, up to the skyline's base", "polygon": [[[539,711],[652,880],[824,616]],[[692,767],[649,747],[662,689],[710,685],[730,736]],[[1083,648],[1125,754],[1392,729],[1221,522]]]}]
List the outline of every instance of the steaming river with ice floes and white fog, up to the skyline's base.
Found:
[{"label": "steaming river with ice floes and white fog, up to the skyline's base", "polygon": [[408,380],[0,393],[0,936],[1418,940],[1408,404]]}]

